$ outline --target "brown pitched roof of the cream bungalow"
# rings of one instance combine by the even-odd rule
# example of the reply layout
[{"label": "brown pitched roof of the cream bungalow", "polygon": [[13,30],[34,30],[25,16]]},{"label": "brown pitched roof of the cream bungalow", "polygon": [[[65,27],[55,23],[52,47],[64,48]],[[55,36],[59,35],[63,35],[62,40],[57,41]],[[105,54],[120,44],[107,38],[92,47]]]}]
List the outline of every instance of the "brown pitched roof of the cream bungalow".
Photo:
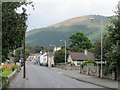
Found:
[{"label": "brown pitched roof of the cream bungalow", "polygon": [[91,52],[87,52],[85,54],[84,52],[71,52],[69,54],[72,58],[72,60],[94,60],[94,54]]}]

